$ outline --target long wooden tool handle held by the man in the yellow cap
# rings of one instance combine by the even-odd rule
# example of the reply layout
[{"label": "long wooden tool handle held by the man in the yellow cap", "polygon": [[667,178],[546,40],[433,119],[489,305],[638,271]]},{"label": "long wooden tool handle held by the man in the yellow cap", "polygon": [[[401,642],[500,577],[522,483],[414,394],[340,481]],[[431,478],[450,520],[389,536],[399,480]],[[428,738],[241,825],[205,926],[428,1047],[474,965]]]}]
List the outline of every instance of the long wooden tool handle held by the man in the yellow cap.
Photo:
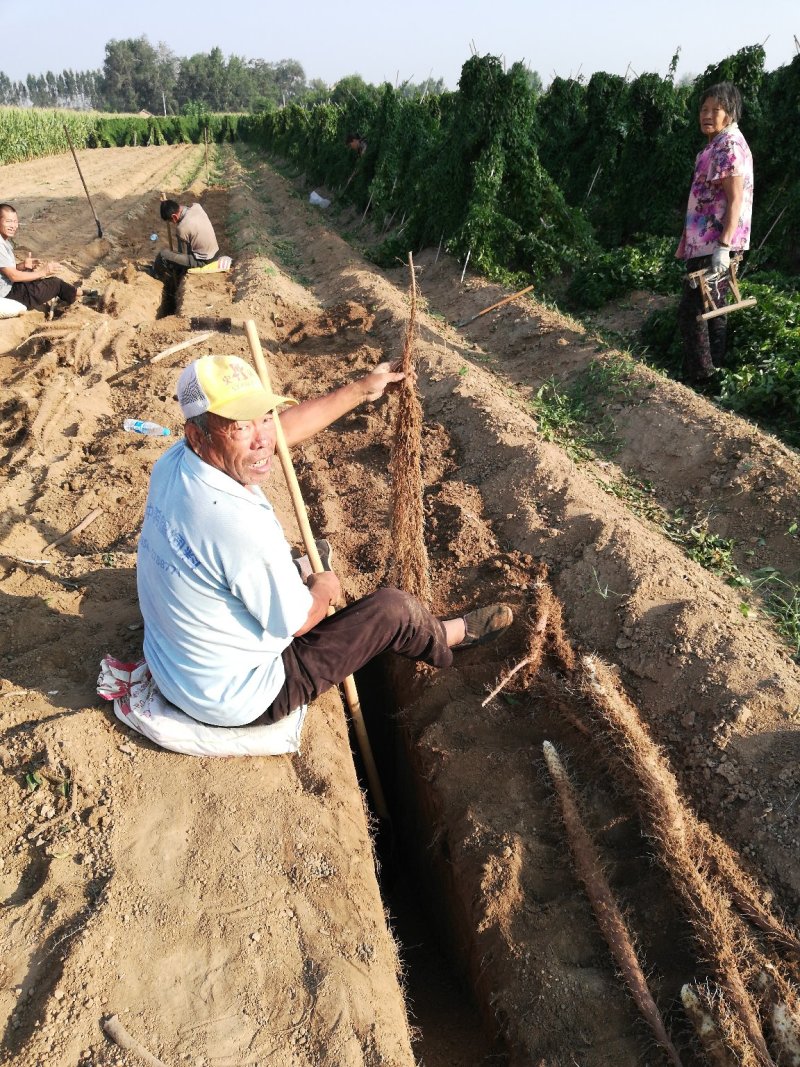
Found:
[{"label": "long wooden tool handle held by the man in the yellow cap", "polygon": [[[250,351],[253,354],[253,360],[256,365],[258,377],[261,379],[261,384],[266,389],[272,392],[270,372],[267,368],[267,361],[265,360],[263,352],[261,350],[261,341],[258,337],[258,331],[256,330],[256,324],[253,319],[247,319],[244,323],[244,332],[247,335]],[[300,532],[303,537],[303,544],[305,545],[305,551],[308,555],[308,561],[311,564],[314,573],[321,574],[324,568],[322,567],[322,560],[319,558],[319,551],[317,550],[317,544],[314,540],[311,525],[308,522],[308,512],[306,511],[305,503],[303,501],[303,494],[300,490],[298,476],[294,472],[294,464],[291,461],[289,446],[286,444],[286,437],[284,436],[284,430],[281,426],[279,418],[275,419],[275,450],[277,451],[278,459],[281,460],[281,466],[284,471],[284,477],[286,478],[286,483],[289,489],[292,507],[294,508],[294,515],[298,520],[298,525],[300,526]],[[333,615],[333,612],[334,608],[330,607],[327,614]],[[350,711],[350,716],[353,720],[353,729],[355,730],[358,750],[362,754],[362,759],[364,760],[364,769],[367,775],[369,791],[372,794],[375,812],[379,818],[388,818],[389,812],[386,807],[386,798],[384,797],[381,780],[378,776],[378,767],[375,766],[372,748],[369,744],[367,728],[364,724],[364,715],[362,713],[361,700],[358,699],[358,691],[355,687],[355,679],[351,674],[345,679],[341,685],[345,690],[345,699],[347,700],[348,710]]]}]

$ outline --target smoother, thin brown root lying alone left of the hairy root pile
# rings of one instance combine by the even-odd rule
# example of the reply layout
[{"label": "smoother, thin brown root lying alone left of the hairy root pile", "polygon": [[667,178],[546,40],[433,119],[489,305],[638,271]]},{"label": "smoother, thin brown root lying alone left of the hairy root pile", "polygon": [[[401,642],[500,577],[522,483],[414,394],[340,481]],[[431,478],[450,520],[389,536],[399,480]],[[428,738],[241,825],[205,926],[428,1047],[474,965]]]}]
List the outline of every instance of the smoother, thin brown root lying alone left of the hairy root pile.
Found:
[{"label": "smoother, thin brown root lying alone left of the hairy root pile", "polygon": [[667,1033],[661,1013],[653,1000],[647,981],[637,959],[636,950],[622,918],[622,912],[603,873],[594,843],[583,826],[572,782],[564,770],[564,765],[561,763],[555,747],[548,740],[542,745],[542,750],[561,803],[561,815],[570,843],[570,851],[575,862],[575,870],[583,882],[597,925],[608,942],[617,966],[623,973],[636,1006],[644,1016],[670,1063],[673,1067],[681,1067],[681,1057]]}]

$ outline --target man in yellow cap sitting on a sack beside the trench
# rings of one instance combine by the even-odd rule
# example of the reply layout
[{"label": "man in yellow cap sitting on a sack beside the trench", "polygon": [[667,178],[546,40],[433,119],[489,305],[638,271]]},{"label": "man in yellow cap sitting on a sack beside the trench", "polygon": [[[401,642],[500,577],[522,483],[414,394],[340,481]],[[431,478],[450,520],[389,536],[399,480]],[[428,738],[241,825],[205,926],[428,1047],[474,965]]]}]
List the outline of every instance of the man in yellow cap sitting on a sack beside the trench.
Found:
[{"label": "man in yellow cap sitting on a sack beside the trench", "polygon": [[267,392],[238,356],[206,355],[178,381],[182,441],[150,477],[137,580],[144,654],[162,695],[213,726],[269,723],[309,703],[390,650],[434,667],[512,622],[502,604],[441,620],[383,588],[327,616],[332,571],[305,580],[261,491],[275,419],[298,444],[400,381],[382,363],[324,396],[294,403]]}]

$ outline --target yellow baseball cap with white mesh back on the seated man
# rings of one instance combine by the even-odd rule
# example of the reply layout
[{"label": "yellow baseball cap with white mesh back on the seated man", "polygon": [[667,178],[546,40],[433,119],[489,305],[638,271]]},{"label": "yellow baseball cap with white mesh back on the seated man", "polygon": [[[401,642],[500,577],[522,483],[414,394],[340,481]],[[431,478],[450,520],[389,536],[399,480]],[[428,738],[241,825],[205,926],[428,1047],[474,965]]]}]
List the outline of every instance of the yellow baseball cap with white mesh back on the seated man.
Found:
[{"label": "yellow baseball cap with white mesh back on the seated man", "polygon": [[210,411],[250,421],[283,403],[297,402],[266,389],[253,367],[238,355],[201,356],[178,379],[178,403],[186,418]]}]

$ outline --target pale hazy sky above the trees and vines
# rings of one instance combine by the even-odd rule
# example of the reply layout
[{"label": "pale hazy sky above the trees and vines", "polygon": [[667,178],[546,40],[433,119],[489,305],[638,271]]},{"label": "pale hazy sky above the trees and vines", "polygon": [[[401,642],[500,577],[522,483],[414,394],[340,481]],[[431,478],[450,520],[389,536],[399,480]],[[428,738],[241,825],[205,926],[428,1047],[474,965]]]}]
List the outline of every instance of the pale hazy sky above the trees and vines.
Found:
[{"label": "pale hazy sky above the trees and vines", "polygon": [[[678,77],[766,39],[767,67],[790,62],[800,0],[0,0],[0,69],[27,74],[102,66],[106,42],[146,35],[176,54],[207,52],[299,60],[306,78],[333,83],[444,78],[454,89],[474,48],[523,60],[542,76],[595,70],[666,74],[681,46]],[[169,19],[167,19],[169,15]]]}]

